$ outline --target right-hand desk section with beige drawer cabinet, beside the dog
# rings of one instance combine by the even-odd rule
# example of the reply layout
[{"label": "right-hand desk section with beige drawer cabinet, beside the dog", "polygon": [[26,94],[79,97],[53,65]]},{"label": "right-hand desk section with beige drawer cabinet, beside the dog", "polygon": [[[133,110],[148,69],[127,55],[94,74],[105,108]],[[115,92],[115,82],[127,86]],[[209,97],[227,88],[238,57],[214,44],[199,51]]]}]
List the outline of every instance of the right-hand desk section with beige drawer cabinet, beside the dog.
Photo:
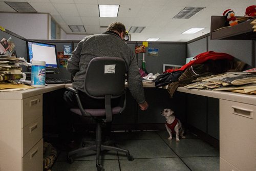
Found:
[{"label": "right-hand desk section with beige drawer cabinet, beside the dog", "polygon": [[177,91],[220,99],[220,170],[256,170],[256,95],[183,87]]}]

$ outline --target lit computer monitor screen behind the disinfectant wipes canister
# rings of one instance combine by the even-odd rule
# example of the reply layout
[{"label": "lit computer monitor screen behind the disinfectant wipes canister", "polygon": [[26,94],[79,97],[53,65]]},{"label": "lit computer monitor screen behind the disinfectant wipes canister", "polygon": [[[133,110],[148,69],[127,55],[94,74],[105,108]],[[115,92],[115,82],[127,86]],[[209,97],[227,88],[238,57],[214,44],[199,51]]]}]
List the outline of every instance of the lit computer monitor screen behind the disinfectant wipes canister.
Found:
[{"label": "lit computer monitor screen behind the disinfectant wipes canister", "polygon": [[46,68],[58,68],[56,45],[27,40],[27,51],[29,62],[46,61]]}]

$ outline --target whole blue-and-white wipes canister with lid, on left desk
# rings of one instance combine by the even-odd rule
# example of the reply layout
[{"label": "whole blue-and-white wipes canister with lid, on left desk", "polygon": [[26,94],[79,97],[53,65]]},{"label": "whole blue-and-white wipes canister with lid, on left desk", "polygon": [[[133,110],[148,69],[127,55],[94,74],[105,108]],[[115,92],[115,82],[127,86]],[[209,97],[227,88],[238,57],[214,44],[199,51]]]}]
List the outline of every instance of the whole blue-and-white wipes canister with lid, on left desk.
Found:
[{"label": "whole blue-and-white wipes canister with lid, on left desk", "polygon": [[46,62],[33,60],[31,67],[31,86],[45,87],[46,84]]}]

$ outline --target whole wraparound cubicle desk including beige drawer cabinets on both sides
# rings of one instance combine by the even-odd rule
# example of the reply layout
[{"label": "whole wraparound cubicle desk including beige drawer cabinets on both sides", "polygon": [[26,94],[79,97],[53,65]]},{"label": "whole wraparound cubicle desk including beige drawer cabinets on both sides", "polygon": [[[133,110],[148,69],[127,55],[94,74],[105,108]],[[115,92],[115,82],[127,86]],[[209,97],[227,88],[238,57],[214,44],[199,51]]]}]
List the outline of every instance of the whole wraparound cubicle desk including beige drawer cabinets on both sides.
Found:
[{"label": "whole wraparound cubicle desk including beige drawer cabinets on both sides", "polygon": [[[42,94],[70,87],[0,93],[0,170],[42,170]],[[154,84],[143,84],[154,87]],[[256,96],[178,88],[179,92],[220,99],[220,168],[256,168]],[[240,124],[238,124],[240,123]]]}]

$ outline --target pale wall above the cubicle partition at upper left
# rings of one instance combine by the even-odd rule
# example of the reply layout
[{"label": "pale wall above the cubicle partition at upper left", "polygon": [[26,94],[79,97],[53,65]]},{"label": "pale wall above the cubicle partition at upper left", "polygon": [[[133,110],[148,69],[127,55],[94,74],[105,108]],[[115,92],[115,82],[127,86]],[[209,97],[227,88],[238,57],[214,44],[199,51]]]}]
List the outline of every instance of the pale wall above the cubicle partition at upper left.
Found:
[{"label": "pale wall above the cubicle partition at upper left", "polygon": [[48,15],[0,13],[0,26],[27,39],[48,39]]}]

